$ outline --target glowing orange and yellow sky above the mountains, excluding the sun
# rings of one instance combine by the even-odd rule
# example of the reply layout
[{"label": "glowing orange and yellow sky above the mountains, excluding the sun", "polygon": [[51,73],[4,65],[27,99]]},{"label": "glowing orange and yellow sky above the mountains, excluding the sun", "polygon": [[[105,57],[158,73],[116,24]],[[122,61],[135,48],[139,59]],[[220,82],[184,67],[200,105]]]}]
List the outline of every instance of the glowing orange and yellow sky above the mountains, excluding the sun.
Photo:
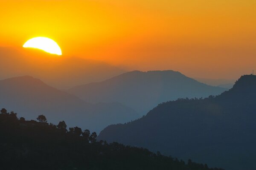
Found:
[{"label": "glowing orange and yellow sky above the mountains, excluding the sun", "polygon": [[0,0],[0,22],[0,47],[41,36],[128,71],[256,71],[256,0]]}]

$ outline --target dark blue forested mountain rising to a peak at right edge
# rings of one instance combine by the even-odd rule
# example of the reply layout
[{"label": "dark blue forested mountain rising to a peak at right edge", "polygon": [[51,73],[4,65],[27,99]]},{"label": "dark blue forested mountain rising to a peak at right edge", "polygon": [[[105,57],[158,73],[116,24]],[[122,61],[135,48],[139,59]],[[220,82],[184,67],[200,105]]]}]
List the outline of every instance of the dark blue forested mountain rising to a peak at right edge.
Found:
[{"label": "dark blue forested mountain rising to a peak at right edge", "polygon": [[140,119],[110,125],[108,142],[146,147],[226,170],[256,169],[256,76],[242,76],[229,91],[205,99],[178,99]]}]

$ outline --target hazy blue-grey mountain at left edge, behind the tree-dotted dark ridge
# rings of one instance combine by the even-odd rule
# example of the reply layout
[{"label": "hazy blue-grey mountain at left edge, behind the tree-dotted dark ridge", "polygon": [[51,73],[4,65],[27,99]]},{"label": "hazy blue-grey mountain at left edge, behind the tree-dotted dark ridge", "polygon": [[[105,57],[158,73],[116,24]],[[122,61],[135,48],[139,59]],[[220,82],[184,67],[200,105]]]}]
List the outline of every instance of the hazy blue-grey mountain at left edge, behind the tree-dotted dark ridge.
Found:
[{"label": "hazy blue-grey mountain at left edge, behind the tree-dotted dark ridge", "polygon": [[99,132],[107,125],[137,118],[137,113],[120,103],[90,104],[78,97],[29,76],[0,80],[0,107],[13,109],[29,119],[44,114],[49,122],[67,120]]}]

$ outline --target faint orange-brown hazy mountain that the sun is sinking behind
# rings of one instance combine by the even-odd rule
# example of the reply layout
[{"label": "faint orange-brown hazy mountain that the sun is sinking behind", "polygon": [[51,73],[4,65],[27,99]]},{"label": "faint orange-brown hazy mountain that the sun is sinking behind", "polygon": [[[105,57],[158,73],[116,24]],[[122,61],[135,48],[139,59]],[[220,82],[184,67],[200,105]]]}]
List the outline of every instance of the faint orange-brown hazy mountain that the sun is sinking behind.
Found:
[{"label": "faint orange-brown hazy mountain that the sun is sinking behind", "polygon": [[64,89],[124,73],[120,68],[74,56],[56,56],[32,48],[0,47],[0,79],[30,75]]}]

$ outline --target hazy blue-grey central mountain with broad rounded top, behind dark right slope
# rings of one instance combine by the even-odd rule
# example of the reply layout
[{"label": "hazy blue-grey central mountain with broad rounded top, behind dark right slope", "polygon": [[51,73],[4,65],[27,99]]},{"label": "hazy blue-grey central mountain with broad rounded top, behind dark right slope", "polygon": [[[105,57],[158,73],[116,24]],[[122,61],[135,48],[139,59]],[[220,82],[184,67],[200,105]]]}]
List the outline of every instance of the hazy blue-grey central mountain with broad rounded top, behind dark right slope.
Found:
[{"label": "hazy blue-grey central mountain with broad rounded top, behind dark right slope", "polygon": [[143,115],[161,102],[183,97],[207,97],[221,94],[224,90],[200,83],[177,71],[131,71],[103,82],[80,85],[68,92],[91,103],[120,102]]}]

